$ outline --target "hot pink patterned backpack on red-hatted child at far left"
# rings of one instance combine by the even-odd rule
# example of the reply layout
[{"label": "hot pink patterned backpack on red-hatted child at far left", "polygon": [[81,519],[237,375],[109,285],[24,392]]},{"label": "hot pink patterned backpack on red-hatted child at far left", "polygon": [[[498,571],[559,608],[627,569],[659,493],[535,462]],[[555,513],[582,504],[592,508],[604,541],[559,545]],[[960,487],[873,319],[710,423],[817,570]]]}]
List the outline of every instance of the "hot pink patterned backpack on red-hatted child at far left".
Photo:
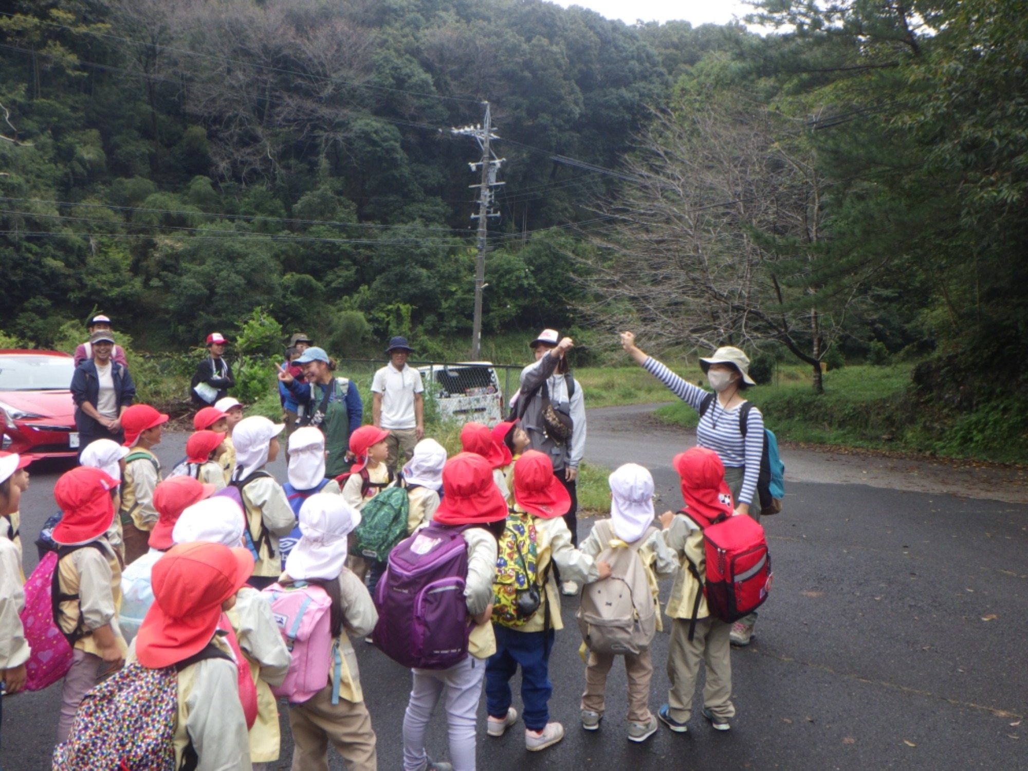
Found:
[{"label": "hot pink patterned backpack on red-hatted child at far left", "polygon": [[58,553],[46,552],[25,582],[25,608],[20,616],[25,627],[25,639],[32,649],[32,655],[25,664],[26,691],[42,691],[71,669],[71,646],[53,623],[50,587],[57,564]]}]

